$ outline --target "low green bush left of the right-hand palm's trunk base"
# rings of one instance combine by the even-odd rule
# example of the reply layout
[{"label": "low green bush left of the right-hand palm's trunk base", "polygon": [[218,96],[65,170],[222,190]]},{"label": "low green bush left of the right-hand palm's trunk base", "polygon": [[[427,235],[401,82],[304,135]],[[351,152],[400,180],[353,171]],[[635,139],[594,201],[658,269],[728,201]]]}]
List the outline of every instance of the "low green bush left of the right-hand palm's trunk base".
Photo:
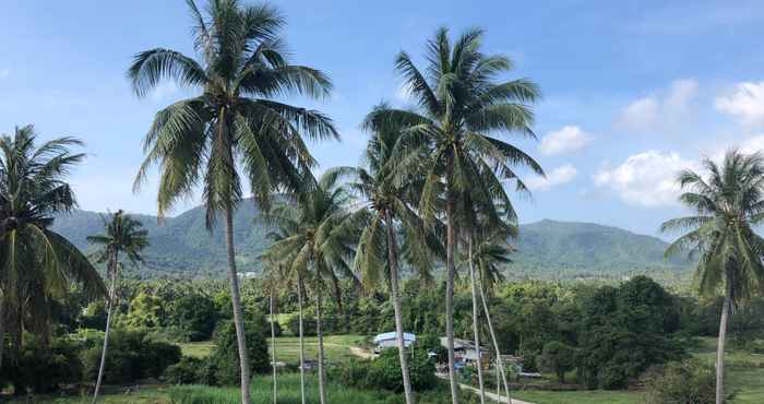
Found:
[{"label": "low green bush left of the right-hand palm's trunk base", "polygon": [[715,402],[714,368],[699,360],[671,361],[647,370],[645,384],[646,404]]}]

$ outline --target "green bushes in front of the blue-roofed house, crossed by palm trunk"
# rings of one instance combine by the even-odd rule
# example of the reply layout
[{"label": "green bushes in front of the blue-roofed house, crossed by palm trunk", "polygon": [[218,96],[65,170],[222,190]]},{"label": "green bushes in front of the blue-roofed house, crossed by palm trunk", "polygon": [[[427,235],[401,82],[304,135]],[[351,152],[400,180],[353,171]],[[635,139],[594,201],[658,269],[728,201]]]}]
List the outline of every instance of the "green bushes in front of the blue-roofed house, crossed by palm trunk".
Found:
[{"label": "green bushes in front of the blue-roofed house, crossed by palm trunk", "polygon": [[[411,388],[415,391],[431,390],[437,385],[434,364],[422,349],[408,356],[408,370]],[[384,349],[374,360],[351,359],[332,369],[332,379],[359,389],[384,389],[402,392],[401,360],[396,348]]]}]

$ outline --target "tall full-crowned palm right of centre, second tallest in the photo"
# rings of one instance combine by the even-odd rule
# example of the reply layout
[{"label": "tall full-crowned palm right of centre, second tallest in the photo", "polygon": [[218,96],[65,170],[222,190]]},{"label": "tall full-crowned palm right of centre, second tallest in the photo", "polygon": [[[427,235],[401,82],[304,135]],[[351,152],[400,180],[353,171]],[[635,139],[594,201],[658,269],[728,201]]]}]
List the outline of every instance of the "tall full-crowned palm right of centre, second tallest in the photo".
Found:
[{"label": "tall full-crowned palm right of centre, second tallest in the photo", "polygon": [[[509,71],[512,63],[503,56],[482,54],[482,31],[469,29],[452,47],[447,29],[439,29],[427,47],[427,75],[406,52],[401,52],[396,68],[419,108],[415,111],[387,108],[369,117],[372,127],[397,122],[407,128],[398,141],[398,168],[423,173],[419,211],[428,223],[442,211],[438,202],[443,194],[445,198],[445,319],[454,404],[458,403],[453,346],[457,204],[467,194],[479,194],[476,199],[498,199],[501,206],[511,207],[502,180],[514,180],[518,189],[525,190],[513,167],[528,166],[544,175],[529,155],[493,136],[516,131],[535,139],[529,104],[538,98],[539,90],[524,79],[497,83],[497,78]],[[427,153],[422,154],[422,150]],[[427,158],[419,158],[422,155]],[[486,214],[492,221],[512,222],[514,217],[511,209],[504,212],[490,209]]]}]

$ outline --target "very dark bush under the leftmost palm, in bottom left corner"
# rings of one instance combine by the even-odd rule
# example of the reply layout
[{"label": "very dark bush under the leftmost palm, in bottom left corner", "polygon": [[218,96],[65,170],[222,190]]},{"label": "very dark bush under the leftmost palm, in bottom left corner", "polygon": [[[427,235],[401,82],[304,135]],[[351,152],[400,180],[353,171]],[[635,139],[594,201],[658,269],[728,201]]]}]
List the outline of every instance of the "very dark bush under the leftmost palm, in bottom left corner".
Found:
[{"label": "very dark bush under the leftmost palm, in bottom left corner", "polygon": [[62,384],[82,379],[80,345],[67,338],[56,337],[48,347],[38,336],[24,334],[24,344],[15,358],[5,354],[0,371],[0,385],[10,383],[16,393],[27,390],[46,393]]}]

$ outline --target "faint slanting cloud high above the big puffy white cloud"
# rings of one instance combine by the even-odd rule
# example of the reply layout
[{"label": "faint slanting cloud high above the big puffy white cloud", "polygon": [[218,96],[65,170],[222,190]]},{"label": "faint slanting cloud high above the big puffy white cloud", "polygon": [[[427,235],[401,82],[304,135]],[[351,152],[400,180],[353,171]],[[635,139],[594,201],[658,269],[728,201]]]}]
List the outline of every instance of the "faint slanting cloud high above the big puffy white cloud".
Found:
[{"label": "faint slanting cloud high above the big puffy white cloud", "polygon": [[621,111],[618,123],[633,131],[653,131],[685,114],[697,93],[697,82],[675,80],[668,90],[638,98]]}]

